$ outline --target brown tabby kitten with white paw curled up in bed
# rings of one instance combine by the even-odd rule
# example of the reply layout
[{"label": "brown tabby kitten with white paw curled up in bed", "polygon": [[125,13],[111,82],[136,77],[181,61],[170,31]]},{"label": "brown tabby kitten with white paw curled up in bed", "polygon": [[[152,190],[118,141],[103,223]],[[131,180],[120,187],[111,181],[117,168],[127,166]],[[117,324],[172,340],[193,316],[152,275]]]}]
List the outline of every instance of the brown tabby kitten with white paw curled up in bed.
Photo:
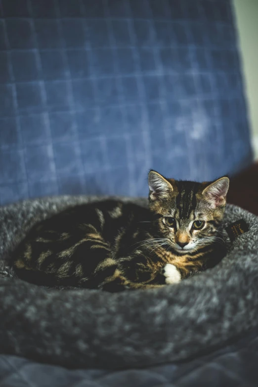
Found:
[{"label": "brown tabby kitten with white paw curled up in bed", "polygon": [[149,208],[78,205],[35,225],[14,253],[17,275],[45,286],[155,288],[215,266],[229,179],[195,183],[149,172]]}]

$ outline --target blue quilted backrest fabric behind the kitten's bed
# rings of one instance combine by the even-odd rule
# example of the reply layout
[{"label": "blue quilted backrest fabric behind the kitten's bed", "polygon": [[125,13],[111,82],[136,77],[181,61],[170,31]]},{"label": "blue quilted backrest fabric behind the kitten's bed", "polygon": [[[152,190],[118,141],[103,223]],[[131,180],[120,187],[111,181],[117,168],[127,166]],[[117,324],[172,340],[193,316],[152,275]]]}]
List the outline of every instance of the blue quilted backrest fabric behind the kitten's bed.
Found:
[{"label": "blue quilted backrest fabric behind the kitten's bed", "polygon": [[0,204],[251,158],[228,0],[0,0]]}]

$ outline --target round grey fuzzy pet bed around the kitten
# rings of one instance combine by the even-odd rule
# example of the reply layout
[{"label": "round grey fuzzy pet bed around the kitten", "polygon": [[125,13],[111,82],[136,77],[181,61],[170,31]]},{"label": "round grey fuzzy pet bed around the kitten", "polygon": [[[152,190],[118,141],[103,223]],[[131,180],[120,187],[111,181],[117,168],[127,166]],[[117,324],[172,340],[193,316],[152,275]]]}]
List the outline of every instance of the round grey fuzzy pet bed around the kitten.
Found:
[{"label": "round grey fuzzy pet bed around the kitten", "polygon": [[[110,294],[49,290],[15,278],[7,261],[26,231],[94,199],[62,196],[0,208],[1,353],[76,368],[143,367],[196,356],[257,326],[258,218],[232,205],[222,228],[226,257],[179,284]],[[250,231],[231,243],[224,229],[241,218]]]}]

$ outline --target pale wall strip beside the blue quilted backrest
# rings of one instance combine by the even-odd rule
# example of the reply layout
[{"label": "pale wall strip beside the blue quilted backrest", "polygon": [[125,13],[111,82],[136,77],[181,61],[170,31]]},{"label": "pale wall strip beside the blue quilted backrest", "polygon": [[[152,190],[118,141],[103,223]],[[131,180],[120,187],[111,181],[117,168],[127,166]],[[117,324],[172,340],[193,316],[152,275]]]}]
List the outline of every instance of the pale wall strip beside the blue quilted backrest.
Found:
[{"label": "pale wall strip beside the blue quilted backrest", "polygon": [[258,0],[233,0],[242,53],[249,121],[258,158]]}]

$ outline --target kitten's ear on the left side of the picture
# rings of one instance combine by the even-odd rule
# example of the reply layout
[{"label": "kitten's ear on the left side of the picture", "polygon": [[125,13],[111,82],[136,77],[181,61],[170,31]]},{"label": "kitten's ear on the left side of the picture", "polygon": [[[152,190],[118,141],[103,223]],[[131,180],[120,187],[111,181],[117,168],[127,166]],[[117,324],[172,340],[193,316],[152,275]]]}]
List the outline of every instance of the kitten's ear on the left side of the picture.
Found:
[{"label": "kitten's ear on the left side of the picture", "polygon": [[156,171],[150,171],[149,177],[149,199],[154,201],[158,199],[166,199],[173,192],[173,187],[170,182]]}]

